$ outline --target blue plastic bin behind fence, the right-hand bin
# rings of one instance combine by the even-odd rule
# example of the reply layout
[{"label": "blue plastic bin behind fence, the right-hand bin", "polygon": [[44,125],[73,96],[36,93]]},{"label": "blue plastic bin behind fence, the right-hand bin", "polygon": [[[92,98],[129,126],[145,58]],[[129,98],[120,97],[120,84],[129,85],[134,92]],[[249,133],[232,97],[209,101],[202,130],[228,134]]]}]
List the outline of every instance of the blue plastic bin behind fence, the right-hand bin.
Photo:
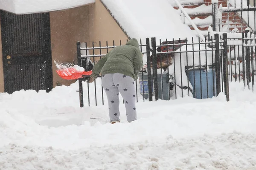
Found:
[{"label": "blue plastic bin behind fence, the right-hand bin", "polygon": [[[193,87],[193,97],[201,99],[201,83],[200,83],[200,69],[195,68],[195,82],[194,82],[194,70],[193,68],[186,69],[186,74],[189,78],[189,82]],[[207,72],[206,68],[201,68],[201,80],[202,80],[202,99],[207,99],[207,80],[208,80],[208,97],[212,98],[216,94],[216,73],[215,68],[209,67]],[[195,89],[194,89],[195,88]]]}]

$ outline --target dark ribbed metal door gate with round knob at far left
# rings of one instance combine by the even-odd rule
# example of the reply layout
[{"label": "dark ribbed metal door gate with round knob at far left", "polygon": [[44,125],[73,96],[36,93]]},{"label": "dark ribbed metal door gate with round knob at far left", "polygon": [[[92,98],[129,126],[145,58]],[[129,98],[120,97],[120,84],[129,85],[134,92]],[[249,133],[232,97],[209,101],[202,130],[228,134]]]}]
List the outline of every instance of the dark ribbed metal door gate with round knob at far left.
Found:
[{"label": "dark ribbed metal door gate with round knob at far left", "polygon": [[49,13],[0,11],[4,91],[52,89]]}]

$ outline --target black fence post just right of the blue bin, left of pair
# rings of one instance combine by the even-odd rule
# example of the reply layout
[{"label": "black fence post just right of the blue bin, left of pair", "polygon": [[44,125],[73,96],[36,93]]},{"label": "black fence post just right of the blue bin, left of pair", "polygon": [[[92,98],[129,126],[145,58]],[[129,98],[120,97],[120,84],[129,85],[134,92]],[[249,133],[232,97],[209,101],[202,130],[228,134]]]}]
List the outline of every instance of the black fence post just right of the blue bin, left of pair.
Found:
[{"label": "black fence post just right of the blue bin, left of pair", "polygon": [[215,72],[216,72],[216,96],[221,93],[221,75],[220,75],[220,48],[219,36],[214,34],[215,39]]}]

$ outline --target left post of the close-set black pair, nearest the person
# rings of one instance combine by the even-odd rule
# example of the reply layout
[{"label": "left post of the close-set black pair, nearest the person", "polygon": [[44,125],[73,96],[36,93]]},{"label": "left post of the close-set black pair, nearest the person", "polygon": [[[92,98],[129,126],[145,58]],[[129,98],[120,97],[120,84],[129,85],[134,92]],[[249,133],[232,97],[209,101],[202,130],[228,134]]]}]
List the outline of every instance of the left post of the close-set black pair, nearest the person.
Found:
[{"label": "left post of the close-set black pair, nearest the person", "polygon": [[148,72],[148,100],[153,101],[152,77],[151,77],[151,63],[150,63],[150,41],[146,38],[146,51],[147,51],[147,72]]}]

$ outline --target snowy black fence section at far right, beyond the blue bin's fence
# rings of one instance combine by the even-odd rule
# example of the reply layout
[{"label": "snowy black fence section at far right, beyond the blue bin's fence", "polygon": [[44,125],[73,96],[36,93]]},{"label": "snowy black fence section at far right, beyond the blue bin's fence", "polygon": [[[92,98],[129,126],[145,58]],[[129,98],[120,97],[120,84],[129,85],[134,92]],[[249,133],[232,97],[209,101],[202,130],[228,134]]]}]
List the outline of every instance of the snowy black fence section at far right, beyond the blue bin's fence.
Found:
[{"label": "snowy black fence section at far right, beyond the blue bin's fence", "polygon": [[256,78],[256,32],[245,31],[241,38],[228,38],[228,71],[230,81],[243,81],[253,90]]}]

